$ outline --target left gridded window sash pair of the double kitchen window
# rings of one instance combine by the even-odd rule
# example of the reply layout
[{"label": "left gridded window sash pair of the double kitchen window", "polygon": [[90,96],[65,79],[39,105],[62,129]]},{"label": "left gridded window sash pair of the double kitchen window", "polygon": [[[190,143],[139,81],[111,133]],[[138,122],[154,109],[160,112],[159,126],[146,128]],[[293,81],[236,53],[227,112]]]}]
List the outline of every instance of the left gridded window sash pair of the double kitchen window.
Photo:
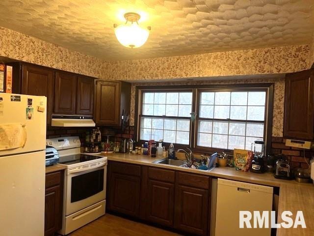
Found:
[{"label": "left gridded window sash pair of the double kitchen window", "polygon": [[192,90],[142,93],[140,139],[190,144]]}]

